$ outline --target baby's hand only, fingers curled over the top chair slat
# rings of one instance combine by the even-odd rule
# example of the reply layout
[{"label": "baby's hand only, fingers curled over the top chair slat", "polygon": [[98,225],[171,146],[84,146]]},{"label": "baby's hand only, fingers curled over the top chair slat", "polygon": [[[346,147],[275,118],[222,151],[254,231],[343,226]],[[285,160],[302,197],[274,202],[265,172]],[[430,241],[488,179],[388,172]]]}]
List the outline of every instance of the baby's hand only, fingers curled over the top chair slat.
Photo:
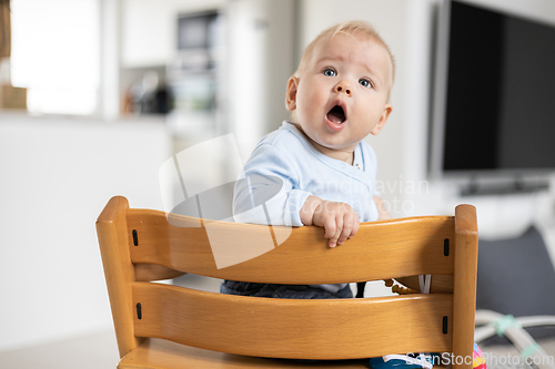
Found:
[{"label": "baby's hand only, fingers curled over the top chair slat", "polygon": [[330,247],[335,247],[356,234],[360,221],[350,205],[323,201],[314,209],[312,223],[324,227],[324,237],[330,238]]}]

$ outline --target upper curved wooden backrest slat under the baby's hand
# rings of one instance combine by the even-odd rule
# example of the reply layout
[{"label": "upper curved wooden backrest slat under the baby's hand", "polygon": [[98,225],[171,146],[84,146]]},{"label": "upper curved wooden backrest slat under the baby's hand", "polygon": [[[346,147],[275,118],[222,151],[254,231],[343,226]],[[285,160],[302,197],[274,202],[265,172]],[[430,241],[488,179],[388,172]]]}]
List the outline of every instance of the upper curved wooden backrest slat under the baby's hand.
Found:
[{"label": "upper curved wooden backrest slat under the baby's hand", "polygon": [[[130,244],[132,262],[214,278],[281,284],[335,284],[421,274],[448,275],[454,270],[453,253],[444,255],[443,240],[454,238],[454,218],[448,216],[364,223],[352,239],[335,248],[326,246],[321,227],[294,228],[272,250],[220,269],[205,228],[194,226],[199,219],[182,219],[189,227],[170,225],[163,212],[130,209],[130,240],[133,229],[138,234],[138,246]],[[261,244],[256,235],[269,232],[266,226],[211,222],[211,229],[218,229],[219,237],[229,246],[230,257],[235,258],[238,247],[255,249]],[[282,228],[273,230],[280,234]],[[245,234],[253,237],[245,242]]]}]

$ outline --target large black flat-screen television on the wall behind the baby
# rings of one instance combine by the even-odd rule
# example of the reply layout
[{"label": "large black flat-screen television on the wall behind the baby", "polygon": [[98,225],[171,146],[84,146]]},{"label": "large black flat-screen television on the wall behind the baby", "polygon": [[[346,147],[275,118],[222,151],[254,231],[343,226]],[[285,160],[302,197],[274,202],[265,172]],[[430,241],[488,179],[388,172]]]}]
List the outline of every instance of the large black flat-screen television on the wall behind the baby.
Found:
[{"label": "large black flat-screen television on the wall behind the baby", "polygon": [[555,173],[555,23],[445,0],[433,74],[432,177]]}]

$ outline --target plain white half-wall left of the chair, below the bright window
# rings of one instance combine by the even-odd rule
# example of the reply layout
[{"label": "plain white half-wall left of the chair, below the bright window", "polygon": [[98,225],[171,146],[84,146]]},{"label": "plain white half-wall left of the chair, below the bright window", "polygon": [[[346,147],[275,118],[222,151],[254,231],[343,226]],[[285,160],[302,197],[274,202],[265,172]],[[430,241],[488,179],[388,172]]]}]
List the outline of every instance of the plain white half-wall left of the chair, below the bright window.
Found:
[{"label": "plain white half-wall left of the chair, below the bright window", "polygon": [[0,114],[0,351],[112,327],[94,222],[162,208],[164,124]]}]

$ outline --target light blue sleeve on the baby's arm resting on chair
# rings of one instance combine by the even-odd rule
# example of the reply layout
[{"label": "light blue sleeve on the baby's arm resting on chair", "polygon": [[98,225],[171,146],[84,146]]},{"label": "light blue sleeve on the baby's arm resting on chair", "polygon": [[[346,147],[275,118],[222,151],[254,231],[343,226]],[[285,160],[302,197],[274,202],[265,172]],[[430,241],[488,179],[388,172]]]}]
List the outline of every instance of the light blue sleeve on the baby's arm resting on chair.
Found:
[{"label": "light blue sleeve on the baby's arm resting on chair", "polygon": [[301,208],[311,193],[299,188],[295,166],[270,144],[254,150],[233,193],[239,223],[302,226]]}]

